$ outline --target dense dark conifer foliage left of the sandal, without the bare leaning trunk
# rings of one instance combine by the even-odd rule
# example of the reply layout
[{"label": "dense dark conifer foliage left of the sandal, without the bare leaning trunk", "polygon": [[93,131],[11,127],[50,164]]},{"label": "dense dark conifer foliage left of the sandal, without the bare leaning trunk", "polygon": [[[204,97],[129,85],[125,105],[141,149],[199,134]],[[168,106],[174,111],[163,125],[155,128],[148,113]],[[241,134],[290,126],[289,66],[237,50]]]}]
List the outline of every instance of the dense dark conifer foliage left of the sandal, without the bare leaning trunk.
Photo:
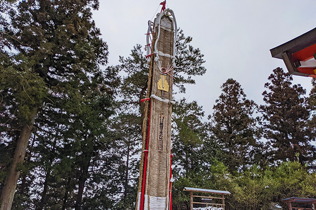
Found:
[{"label": "dense dark conifer foliage left of the sandal, without the bare leaning trunk", "polygon": [[[104,155],[112,141],[105,122],[114,114],[119,79],[116,69],[100,69],[107,63],[108,46],[92,20],[98,1],[33,0],[10,6],[10,21],[0,26],[1,46],[14,51],[1,48],[0,93],[1,134],[13,151],[16,128],[28,120],[31,108],[38,108],[35,147],[27,151],[34,162],[28,169],[36,178],[27,189],[23,182],[18,185],[14,208],[79,209],[86,186],[102,183],[98,178],[109,182],[110,176],[98,172],[110,171],[113,158]],[[2,161],[1,166],[5,169]],[[93,192],[89,187],[87,192]],[[36,199],[19,206],[28,189]]]}]

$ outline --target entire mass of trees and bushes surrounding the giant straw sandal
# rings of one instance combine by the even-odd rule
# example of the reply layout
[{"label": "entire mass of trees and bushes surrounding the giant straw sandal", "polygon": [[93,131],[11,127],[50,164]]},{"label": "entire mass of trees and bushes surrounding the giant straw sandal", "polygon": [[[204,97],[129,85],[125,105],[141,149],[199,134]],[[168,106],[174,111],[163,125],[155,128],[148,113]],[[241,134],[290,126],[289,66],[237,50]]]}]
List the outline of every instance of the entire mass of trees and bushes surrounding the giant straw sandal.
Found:
[{"label": "entire mass of trees and bushes surrounding the giant straw sandal", "polygon": [[[0,0],[1,210],[135,209],[149,64],[136,44],[108,65],[98,7]],[[316,81],[307,96],[276,68],[257,105],[230,78],[202,107],[185,92],[205,74],[204,55],[178,32],[172,208],[189,209],[185,186],[230,191],[226,210],[315,198]]]}]

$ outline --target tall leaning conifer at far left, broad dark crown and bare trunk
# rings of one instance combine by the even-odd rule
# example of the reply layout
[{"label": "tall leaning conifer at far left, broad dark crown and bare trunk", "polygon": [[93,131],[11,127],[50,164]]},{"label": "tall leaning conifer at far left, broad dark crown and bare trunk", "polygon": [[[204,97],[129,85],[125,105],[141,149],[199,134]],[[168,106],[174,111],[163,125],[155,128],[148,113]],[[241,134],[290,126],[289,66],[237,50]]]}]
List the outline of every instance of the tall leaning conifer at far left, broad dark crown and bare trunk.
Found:
[{"label": "tall leaning conifer at far left, broad dark crown and bare trunk", "polygon": [[[32,126],[41,106],[54,103],[54,96],[76,97],[76,94],[80,94],[76,86],[82,87],[92,78],[102,75],[99,65],[107,63],[108,51],[91,18],[91,9],[97,8],[97,0],[34,0],[21,1],[16,8],[10,9],[11,25],[4,28],[4,33],[15,51],[26,57],[17,63],[23,64],[29,60],[27,71],[33,83],[27,81],[30,92],[22,89],[26,101],[18,99],[23,94],[14,93],[15,90],[21,90],[12,88],[19,85],[16,80],[8,80],[8,85],[1,89],[7,95],[12,92],[9,95],[13,96],[14,102],[22,109],[10,113],[16,117],[21,131],[11,137],[17,139],[19,136],[0,197],[1,210],[11,208],[20,174],[17,166],[23,163]],[[14,68],[11,73],[23,76],[23,70]],[[3,77],[1,74],[1,80],[4,80]],[[73,85],[73,92],[67,90],[69,83]],[[48,96],[43,97],[45,94],[39,94],[39,91],[47,91]],[[55,106],[58,108],[58,104]]]}]

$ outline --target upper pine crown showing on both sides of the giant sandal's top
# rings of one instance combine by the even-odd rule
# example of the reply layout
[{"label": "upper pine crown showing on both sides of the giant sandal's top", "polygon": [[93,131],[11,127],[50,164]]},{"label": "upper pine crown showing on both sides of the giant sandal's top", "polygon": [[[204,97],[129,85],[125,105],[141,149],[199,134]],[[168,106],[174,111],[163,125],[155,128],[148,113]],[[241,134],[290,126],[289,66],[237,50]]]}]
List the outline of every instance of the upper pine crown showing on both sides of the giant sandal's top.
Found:
[{"label": "upper pine crown showing on both sides of the giant sandal's top", "polygon": [[[173,71],[174,85],[179,92],[185,92],[184,84],[195,84],[192,76],[203,75],[206,72],[203,63],[203,54],[199,48],[194,48],[190,42],[192,37],[185,37],[182,30],[179,30],[176,39],[176,69]],[[120,65],[117,68],[127,73],[123,77],[121,96],[127,105],[136,105],[143,110],[140,102],[146,96],[149,64],[142,50],[142,46],[137,44],[131,50],[129,57],[119,57]],[[135,107],[135,106],[134,106]]]}]

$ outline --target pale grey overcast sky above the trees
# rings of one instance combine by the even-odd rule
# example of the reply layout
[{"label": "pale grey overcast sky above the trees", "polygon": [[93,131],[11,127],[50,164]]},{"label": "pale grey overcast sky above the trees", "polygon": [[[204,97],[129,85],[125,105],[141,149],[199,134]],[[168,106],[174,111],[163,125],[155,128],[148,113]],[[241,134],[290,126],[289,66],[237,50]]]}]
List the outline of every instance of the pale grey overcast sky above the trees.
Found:
[{"label": "pale grey overcast sky above the trees", "polygon": [[[137,43],[146,44],[147,22],[160,12],[161,1],[100,0],[93,18],[109,45],[109,65],[119,64],[118,56],[127,57]],[[286,70],[269,50],[316,27],[315,0],[167,0],[166,7],[204,54],[206,74],[187,85],[182,96],[196,100],[206,116],[229,78],[241,84],[247,98],[262,104],[268,76],[276,67]],[[311,78],[293,78],[310,91]]]}]

